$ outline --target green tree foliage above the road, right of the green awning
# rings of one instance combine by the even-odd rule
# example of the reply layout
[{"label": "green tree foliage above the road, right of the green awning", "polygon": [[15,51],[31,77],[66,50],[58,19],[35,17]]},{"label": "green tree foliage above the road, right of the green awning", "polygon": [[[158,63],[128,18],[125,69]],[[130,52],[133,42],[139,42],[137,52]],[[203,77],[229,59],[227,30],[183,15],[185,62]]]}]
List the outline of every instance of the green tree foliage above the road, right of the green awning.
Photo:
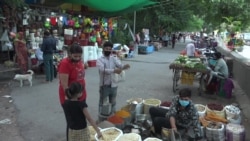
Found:
[{"label": "green tree foliage above the road, right of the green awning", "polygon": [[[225,17],[239,21],[241,30],[250,23],[249,0],[156,0],[158,4],[137,11],[136,29],[149,28],[159,34],[178,31],[211,32],[227,23]],[[133,25],[133,13],[122,16]],[[239,26],[238,26],[239,27]]]}]

